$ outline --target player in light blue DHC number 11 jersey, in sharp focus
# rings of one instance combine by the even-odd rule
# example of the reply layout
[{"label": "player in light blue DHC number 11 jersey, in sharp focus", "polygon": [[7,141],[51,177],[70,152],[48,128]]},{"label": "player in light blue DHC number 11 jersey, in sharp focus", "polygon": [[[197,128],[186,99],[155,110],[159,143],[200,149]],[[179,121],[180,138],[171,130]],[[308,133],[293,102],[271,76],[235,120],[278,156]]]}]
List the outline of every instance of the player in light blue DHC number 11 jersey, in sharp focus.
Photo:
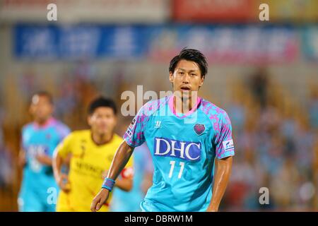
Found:
[{"label": "player in light blue DHC number 11 jersey, in sharp focus", "polygon": [[207,70],[206,57],[196,49],[183,49],[170,61],[173,95],[147,102],[131,121],[92,211],[105,203],[134,148],[144,142],[154,172],[141,210],[218,211],[235,150],[228,114],[196,95]]}]

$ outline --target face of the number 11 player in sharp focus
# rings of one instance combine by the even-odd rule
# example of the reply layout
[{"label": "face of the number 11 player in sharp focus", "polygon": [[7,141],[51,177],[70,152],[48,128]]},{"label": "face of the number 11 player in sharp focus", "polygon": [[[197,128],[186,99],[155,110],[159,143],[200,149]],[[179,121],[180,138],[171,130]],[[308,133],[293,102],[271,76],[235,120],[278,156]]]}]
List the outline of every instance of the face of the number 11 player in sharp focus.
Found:
[{"label": "face of the number 11 player in sharp focus", "polygon": [[192,91],[198,91],[204,83],[199,65],[194,61],[182,59],[175,67],[175,71],[170,72],[170,82],[173,84],[174,92],[181,93],[182,96],[191,95]]}]

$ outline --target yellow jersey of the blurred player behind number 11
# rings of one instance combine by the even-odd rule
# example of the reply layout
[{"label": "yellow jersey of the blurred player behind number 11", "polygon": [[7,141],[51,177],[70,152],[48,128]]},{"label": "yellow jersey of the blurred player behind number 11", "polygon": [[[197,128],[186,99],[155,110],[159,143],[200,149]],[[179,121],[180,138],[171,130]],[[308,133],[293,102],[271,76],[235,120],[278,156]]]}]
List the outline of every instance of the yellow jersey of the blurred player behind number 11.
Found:
[{"label": "yellow jersey of the blurred player behind number 11", "polygon": [[[69,165],[71,191],[68,193],[59,192],[58,212],[90,211],[90,204],[100,191],[105,172],[110,169],[112,158],[122,141],[122,138],[114,133],[109,143],[96,145],[91,138],[90,130],[73,131],[69,136],[66,136],[64,141],[57,146],[56,151],[63,158],[71,154]],[[132,161],[130,158],[123,172],[131,172]],[[100,211],[109,210],[111,194]]]}]

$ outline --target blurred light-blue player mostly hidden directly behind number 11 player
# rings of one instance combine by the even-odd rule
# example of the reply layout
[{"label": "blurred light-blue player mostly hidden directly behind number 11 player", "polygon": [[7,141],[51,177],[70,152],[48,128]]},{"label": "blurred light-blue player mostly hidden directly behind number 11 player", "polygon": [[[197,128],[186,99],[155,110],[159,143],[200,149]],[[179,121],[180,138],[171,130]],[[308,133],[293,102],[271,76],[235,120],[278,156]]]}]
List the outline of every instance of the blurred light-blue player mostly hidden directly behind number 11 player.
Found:
[{"label": "blurred light-blue player mostly hidden directly behind number 11 player", "polygon": [[140,203],[153,183],[153,162],[146,143],[135,149],[132,158],[134,159],[134,186],[129,192],[114,189],[110,205],[113,212],[140,211]]}]

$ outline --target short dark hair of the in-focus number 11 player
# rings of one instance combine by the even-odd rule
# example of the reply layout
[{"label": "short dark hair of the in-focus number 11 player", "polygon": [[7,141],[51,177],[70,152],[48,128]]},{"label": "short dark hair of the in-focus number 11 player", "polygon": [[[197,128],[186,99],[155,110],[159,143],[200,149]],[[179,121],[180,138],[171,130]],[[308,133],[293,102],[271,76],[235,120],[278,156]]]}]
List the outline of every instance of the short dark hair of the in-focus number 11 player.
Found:
[{"label": "short dark hair of the in-focus number 11 player", "polygon": [[169,72],[175,72],[175,67],[182,59],[196,62],[199,65],[201,76],[205,78],[206,73],[208,73],[208,63],[204,54],[197,49],[182,49],[179,55],[173,57],[170,61]]}]

